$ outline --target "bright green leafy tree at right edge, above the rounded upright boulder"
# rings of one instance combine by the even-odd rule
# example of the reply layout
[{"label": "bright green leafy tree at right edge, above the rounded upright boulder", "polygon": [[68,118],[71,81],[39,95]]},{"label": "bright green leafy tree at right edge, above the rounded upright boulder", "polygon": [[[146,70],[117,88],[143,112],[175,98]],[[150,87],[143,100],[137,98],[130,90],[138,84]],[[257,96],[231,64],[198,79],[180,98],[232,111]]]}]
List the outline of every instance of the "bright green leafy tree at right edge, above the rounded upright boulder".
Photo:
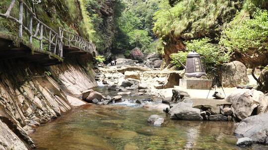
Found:
[{"label": "bright green leafy tree at right edge, above the rounded upright boulder", "polygon": [[220,44],[230,52],[268,51],[268,11],[256,8],[253,19],[245,19],[222,32]]}]

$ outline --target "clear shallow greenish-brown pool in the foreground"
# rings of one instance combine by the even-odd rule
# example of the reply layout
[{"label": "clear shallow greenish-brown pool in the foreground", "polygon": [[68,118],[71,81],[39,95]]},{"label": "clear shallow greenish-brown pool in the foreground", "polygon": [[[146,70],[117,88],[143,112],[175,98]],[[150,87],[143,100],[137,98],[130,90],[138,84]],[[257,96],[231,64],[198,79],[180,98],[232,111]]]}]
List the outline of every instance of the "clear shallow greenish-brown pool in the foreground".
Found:
[{"label": "clear shallow greenish-brown pool in the foreground", "polygon": [[[165,117],[161,127],[147,123]],[[164,112],[118,105],[84,106],[37,128],[37,150],[268,150],[235,146],[232,122],[170,120]]]}]

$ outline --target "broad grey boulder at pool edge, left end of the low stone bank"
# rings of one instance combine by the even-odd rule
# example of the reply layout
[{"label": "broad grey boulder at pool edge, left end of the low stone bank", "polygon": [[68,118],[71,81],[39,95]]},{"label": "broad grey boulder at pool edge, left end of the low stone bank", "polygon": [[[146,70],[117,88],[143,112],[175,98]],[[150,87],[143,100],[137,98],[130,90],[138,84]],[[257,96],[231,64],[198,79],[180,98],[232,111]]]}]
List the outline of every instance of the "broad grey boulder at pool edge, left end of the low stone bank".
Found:
[{"label": "broad grey boulder at pool edge, left end of the low stone bank", "polygon": [[192,108],[191,103],[180,102],[175,104],[170,111],[170,117],[178,120],[203,120],[200,109]]}]

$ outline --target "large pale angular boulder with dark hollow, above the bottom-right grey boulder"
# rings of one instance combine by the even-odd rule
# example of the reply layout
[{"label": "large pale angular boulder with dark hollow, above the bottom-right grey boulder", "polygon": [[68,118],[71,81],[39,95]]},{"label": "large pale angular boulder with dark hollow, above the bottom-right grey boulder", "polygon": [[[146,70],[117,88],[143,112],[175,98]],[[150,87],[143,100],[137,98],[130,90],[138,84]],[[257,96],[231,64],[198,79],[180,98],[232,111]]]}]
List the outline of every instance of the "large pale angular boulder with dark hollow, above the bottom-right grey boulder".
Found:
[{"label": "large pale angular boulder with dark hollow, above the bottom-right grey boulder", "polygon": [[268,97],[254,89],[237,89],[226,101],[232,103],[233,113],[238,120],[268,111]]}]

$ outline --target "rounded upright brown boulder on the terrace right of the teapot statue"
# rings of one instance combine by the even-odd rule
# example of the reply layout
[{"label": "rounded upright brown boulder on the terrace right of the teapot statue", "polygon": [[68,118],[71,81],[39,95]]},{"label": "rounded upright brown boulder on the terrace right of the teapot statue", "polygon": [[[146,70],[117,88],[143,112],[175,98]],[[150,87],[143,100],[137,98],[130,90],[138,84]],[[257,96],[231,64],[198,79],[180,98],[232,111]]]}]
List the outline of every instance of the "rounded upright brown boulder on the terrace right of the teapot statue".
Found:
[{"label": "rounded upright brown boulder on the terrace right of the teapot statue", "polygon": [[226,64],[221,71],[222,85],[224,87],[237,87],[246,85],[249,82],[247,68],[239,61]]}]

